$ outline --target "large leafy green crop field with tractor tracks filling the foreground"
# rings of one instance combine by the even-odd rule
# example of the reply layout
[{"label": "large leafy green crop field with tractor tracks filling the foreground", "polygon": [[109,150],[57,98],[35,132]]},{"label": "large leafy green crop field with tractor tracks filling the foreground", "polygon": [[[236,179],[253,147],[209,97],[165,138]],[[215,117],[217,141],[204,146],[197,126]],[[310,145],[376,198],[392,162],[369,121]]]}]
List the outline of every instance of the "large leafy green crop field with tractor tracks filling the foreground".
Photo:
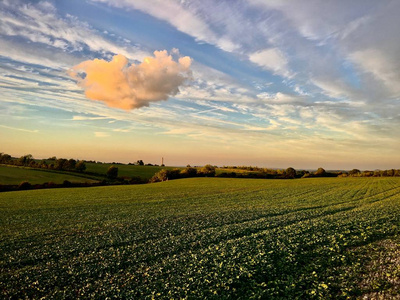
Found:
[{"label": "large leafy green crop field with tractor tracks filling the foreground", "polygon": [[400,178],[0,194],[2,298],[400,297]]}]

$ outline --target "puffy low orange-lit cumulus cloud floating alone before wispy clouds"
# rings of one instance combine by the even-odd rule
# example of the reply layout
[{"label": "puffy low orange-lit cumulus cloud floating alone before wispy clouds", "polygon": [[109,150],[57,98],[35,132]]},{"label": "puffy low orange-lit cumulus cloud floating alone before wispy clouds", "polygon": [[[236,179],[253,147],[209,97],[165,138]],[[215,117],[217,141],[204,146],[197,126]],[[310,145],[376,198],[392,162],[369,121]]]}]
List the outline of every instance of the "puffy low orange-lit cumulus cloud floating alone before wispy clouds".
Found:
[{"label": "puffy low orange-lit cumulus cloud floating alone before wispy clouds", "polygon": [[[173,51],[177,54],[177,51]],[[84,61],[72,67],[68,74],[85,90],[91,100],[105,102],[110,107],[125,110],[149,106],[150,102],[167,100],[179,92],[179,86],[191,77],[192,59],[177,61],[166,50],[155,51],[141,64],[129,64],[124,55]]]}]

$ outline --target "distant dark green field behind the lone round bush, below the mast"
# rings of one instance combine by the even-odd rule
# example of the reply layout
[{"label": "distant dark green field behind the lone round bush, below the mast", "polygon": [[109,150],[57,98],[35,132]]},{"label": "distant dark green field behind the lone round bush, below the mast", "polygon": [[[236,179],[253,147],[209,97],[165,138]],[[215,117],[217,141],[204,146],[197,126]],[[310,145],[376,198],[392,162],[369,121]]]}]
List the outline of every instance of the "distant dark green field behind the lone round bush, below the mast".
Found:
[{"label": "distant dark green field behind the lone round bush, below the mast", "polygon": [[106,174],[110,166],[118,168],[119,177],[140,177],[144,180],[149,180],[153,175],[162,169],[174,169],[173,167],[160,166],[135,166],[135,165],[119,165],[119,164],[96,164],[86,163],[86,172],[97,174]]}]

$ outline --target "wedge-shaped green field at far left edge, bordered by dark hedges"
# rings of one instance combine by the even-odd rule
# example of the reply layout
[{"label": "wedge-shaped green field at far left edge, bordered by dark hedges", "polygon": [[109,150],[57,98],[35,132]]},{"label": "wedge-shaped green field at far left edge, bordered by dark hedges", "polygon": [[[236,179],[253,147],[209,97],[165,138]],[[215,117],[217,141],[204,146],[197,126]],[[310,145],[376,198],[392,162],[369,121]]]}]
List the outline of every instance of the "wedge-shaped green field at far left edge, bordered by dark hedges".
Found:
[{"label": "wedge-shaped green field at far left edge, bordered by dark hedges", "polygon": [[23,181],[28,181],[31,184],[43,184],[45,182],[63,183],[64,180],[70,182],[96,182],[97,180],[87,178],[79,174],[73,175],[68,173],[57,173],[42,171],[38,169],[0,166],[0,184],[3,185],[18,185]]}]

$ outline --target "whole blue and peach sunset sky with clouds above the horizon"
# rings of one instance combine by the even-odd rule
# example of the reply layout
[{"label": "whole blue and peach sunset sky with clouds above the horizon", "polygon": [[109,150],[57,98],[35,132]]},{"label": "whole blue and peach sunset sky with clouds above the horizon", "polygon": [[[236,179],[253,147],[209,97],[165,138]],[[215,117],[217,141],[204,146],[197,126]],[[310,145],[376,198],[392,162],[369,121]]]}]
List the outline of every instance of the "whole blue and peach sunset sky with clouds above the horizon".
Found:
[{"label": "whole blue and peach sunset sky with clouds above the horizon", "polygon": [[0,1],[0,152],[400,168],[400,1]]}]

